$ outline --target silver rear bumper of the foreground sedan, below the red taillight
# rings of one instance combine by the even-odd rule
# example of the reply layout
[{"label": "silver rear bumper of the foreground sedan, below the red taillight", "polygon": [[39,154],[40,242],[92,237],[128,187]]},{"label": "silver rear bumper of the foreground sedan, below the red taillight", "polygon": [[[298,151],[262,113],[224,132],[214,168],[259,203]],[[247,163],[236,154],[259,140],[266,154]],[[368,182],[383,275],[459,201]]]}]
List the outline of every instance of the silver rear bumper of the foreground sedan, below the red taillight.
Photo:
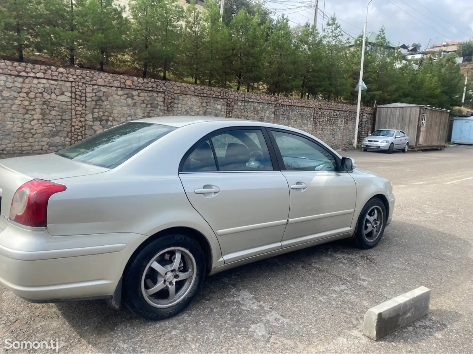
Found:
[{"label": "silver rear bumper of the foreground sedan, below the red taillight", "polygon": [[133,233],[51,236],[10,224],[0,233],[0,283],[33,302],[111,297],[146,238]]}]

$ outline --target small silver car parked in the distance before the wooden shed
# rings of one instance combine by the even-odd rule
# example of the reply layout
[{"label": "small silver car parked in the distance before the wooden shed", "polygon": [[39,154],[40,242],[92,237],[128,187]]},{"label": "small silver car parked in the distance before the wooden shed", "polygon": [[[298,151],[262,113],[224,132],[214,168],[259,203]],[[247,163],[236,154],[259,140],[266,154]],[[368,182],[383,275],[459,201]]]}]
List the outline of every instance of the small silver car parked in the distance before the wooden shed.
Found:
[{"label": "small silver car parked in the distance before the wooden shed", "polygon": [[403,130],[378,129],[369,137],[363,139],[361,144],[363,151],[368,149],[385,150],[392,153],[394,150],[409,150],[409,137]]}]

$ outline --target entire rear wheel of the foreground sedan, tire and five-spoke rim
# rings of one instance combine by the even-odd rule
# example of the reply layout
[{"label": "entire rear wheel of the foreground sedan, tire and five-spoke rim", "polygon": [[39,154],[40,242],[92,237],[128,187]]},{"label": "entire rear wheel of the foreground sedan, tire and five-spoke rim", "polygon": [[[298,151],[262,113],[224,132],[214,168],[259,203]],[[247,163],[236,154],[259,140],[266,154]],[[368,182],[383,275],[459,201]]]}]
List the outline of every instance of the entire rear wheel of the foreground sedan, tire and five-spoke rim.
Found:
[{"label": "entire rear wheel of the foreground sedan, tire and five-spoke rim", "polygon": [[175,316],[197,294],[204,275],[205,257],[197,241],[185,235],[160,237],[125,271],[125,303],[145,319]]}]

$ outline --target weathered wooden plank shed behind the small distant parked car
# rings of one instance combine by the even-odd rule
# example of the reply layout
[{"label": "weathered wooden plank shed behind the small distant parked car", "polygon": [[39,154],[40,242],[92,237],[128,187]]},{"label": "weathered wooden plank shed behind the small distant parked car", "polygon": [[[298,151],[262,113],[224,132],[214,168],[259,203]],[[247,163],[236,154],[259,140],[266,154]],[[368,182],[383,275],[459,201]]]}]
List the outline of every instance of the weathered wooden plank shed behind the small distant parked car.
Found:
[{"label": "weathered wooden plank shed behind the small distant parked car", "polygon": [[376,107],[375,130],[403,130],[409,136],[409,147],[415,150],[444,149],[448,113],[446,109],[420,104],[383,104]]}]

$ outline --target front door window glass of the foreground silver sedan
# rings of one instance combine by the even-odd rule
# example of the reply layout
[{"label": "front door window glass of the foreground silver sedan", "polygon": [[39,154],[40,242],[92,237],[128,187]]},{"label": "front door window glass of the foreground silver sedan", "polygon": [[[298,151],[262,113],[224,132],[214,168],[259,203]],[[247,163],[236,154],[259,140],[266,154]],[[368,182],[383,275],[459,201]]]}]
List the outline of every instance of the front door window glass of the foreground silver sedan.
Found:
[{"label": "front door window glass of the foreground silver sedan", "polygon": [[286,170],[335,171],[335,157],[312,140],[280,131],[272,132]]}]

